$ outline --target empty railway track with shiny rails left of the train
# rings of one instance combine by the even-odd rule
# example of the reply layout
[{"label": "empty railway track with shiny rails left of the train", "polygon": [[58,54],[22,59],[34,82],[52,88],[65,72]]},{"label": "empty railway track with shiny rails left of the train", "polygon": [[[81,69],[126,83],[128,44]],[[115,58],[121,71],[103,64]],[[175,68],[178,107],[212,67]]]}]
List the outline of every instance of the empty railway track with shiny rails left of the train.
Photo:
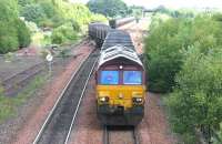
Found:
[{"label": "empty railway track with shiny rails left of the train", "polygon": [[67,144],[99,50],[80,64],[51,110],[33,144]]}]

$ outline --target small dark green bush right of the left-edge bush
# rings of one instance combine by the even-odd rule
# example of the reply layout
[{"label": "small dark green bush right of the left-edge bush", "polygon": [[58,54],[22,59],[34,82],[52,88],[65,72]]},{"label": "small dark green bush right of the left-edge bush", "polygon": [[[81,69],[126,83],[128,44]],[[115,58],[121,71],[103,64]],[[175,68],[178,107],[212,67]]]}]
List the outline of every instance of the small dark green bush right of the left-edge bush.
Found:
[{"label": "small dark green bush right of the left-edge bush", "polygon": [[18,40],[19,47],[28,47],[31,42],[31,33],[27,28],[26,23],[21,20],[17,20]]}]

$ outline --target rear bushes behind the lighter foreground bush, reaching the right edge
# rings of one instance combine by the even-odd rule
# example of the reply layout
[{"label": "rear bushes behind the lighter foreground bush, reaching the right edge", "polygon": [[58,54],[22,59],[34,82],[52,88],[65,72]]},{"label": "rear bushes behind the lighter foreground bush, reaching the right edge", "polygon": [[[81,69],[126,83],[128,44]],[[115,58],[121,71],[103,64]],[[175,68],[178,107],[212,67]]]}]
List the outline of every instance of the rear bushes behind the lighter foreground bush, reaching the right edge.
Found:
[{"label": "rear bushes behind the lighter foreground bush, reaching the right edge", "polygon": [[222,27],[209,16],[194,19],[169,19],[158,23],[145,39],[145,58],[149,89],[155,92],[170,92],[174,76],[180,71],[183,53],[190,45],[198,44],[206,53],[222,45]]}]

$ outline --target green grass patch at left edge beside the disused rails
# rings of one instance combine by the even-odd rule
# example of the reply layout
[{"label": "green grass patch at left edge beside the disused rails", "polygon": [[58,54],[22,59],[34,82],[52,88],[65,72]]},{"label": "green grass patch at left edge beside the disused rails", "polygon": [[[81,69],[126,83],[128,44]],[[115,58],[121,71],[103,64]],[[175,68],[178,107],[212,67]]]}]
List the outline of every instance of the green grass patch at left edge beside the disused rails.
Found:
[{"label": "green grass patch at left edge beside the disused rails", "polygon": [[46,75],[37,75],[16,97],[4,96],[3,89],[0,86],[0,123],[17,115],[17,109],[27,102],[47,79]]}]

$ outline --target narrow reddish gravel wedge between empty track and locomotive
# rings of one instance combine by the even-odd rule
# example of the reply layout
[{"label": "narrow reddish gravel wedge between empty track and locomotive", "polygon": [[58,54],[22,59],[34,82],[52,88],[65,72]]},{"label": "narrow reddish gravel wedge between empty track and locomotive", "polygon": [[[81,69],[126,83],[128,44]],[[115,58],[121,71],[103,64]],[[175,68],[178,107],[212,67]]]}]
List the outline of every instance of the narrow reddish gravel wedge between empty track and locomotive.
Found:
[{"label": "narrow reddish gravel wedge between empty track and locomotive", "polygon": [[70,135],[70,144],[102,144],[103,131],[97,119],[94,83],[94,76],[92,76]]}]

